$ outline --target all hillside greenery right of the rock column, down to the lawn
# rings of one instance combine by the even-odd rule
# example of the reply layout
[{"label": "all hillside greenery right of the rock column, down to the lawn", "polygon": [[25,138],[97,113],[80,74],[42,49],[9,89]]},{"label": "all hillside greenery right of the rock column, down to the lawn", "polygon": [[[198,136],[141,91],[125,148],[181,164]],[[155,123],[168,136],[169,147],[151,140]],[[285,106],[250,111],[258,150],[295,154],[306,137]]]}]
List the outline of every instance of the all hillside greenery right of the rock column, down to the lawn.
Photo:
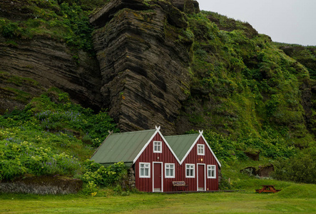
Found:
[{"label": "all hillside greenery right of the rock column, down to the lawn", "polygon": [[182,117],[189,126],[206,129],[222,160],[247,159],[252,150],[278,160],[275,178],[315,183],[314,49],[285,54],[250,24],[213,12],[188,22],[193,81]]}]

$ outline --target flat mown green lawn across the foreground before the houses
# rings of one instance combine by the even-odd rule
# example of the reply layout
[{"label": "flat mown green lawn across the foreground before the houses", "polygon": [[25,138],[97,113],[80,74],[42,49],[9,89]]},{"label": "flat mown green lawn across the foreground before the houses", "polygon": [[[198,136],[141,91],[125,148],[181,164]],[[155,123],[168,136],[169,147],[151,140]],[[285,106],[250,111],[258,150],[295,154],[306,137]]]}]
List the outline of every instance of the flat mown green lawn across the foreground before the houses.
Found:
[{"label": "flat mown green lawn across the foreground before the houses", "polygon": [[316,213],[316,185],[292,183],[279,193],[1,194],[0,213]]}]

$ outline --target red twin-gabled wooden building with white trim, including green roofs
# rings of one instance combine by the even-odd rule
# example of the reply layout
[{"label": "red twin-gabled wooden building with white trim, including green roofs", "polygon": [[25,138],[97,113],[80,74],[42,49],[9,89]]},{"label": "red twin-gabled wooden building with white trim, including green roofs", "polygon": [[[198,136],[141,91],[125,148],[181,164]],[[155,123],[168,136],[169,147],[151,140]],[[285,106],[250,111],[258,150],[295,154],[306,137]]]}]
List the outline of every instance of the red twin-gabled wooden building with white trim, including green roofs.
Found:
[{"label": "red twin-gabled wooden building with white trim, including green roofs", "polygon": [[148,131],[111,134],[91,160],[104,165],[123,161],[131,167],[138,190],[171,192],[173,181],[187,190],[218,190],[220,163],[203,133],[163,137],[160,127]]}]

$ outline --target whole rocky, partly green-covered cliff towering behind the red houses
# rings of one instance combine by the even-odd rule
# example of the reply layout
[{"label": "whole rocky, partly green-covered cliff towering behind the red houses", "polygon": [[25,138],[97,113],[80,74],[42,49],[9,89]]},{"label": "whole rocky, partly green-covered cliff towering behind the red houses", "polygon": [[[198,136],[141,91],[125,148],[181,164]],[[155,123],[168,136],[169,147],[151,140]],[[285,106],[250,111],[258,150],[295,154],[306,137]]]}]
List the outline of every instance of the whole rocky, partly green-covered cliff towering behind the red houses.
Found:
[{"label": "whole rocky, partly green-covered cliff towering behind the red houses", "polygon": [[[193,0],[66,2],[0,1],[0,113],[58,87],[108,108],[121,131],[239,138],[272,127],[312,141],[315,47],[277,45]],[[103,5],[88,19],[88,4]]]}]

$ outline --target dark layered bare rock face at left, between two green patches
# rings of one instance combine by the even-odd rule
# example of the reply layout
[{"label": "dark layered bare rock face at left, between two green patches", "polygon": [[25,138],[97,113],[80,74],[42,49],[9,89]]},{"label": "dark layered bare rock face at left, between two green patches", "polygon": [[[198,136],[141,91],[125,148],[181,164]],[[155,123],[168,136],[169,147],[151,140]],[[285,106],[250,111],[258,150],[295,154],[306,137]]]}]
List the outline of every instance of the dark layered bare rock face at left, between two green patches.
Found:
[{"label": "dark layered bare rock face at left, between two green patches", "polygon": [[48,88],[61,88],[83,106],[101,106],[96,59],[49,38],[9,43],[0,37],[0,113],[24,108]]}]

